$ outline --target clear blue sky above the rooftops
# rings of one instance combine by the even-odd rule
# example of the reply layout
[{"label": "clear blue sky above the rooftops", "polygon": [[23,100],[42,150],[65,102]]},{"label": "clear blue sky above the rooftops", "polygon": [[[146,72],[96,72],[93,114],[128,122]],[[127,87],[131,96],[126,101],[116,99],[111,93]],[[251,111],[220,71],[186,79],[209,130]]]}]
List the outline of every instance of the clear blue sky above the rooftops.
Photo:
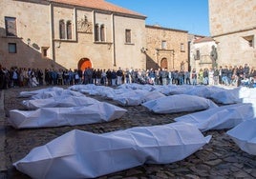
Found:
[{"label": "clear blue sky above the rooftops", "polygon": [[146,25],[209,36],[208,0],[106,0],[147,16]]}]

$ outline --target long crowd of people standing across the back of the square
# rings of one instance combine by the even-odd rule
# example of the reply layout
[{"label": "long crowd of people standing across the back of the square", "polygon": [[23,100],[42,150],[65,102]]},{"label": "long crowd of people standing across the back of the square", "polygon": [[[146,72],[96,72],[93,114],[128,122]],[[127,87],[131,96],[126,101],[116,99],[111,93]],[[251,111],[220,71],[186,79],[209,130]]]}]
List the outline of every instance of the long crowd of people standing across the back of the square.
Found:
[{"label": "long crowd of people standing across the back of the square", "polygon": [[255,87],[256,70],[245,66],[220,66],[220,68],[167,70],[167,69],[126,69],[100,70],[53,70],[26,69],[13,67],[10,70],[0,65],[0,89],[15,87],[37,87],[43,85],[72,86],[95,84],[118,86],[124,83],[150,85],[225,85]]}]

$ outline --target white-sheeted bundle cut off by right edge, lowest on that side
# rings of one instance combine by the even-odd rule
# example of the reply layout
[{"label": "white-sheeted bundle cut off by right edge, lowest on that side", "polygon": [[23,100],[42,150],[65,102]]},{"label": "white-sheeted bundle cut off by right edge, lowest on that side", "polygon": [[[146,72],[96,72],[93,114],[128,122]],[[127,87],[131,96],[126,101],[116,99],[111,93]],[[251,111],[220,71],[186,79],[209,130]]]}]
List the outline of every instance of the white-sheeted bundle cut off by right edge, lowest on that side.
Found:
[{"label": "white-sheeted bundle cut off by right edge, lowest on that side", "polygon": [[240,149],[256,155],[256,118],[246,120],[226,132]]}]

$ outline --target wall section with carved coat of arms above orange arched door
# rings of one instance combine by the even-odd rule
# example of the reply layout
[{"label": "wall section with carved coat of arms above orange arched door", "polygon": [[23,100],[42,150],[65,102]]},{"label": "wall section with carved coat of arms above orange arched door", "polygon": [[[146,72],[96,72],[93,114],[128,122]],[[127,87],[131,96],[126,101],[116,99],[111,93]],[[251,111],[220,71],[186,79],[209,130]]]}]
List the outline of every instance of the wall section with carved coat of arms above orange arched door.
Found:
[{"label": "wall section with carved coat of arms above orange arched door", "polygon": [[[74,11],[77,14],[77,17],[74,16]],[[54,20],[57,22],[54,23],[54,27],[56,28],[56,30],[54,30],[54,33],[56,36],[59,33],[58,21],[63,18],[67,18],[67,20],[72,19],[73,33],[76,33],[75,30],[77,30],[77,36],[75,37],[74,34],[74,39],[60,40],[60,45],[58,45],[58,41],[55,42],[55,44],[57,45],[57,48],[55,48],[55,60],[58,64],[61,64],[68,69],[74,70],[78,68],[77,65],[80,59],[87,58],[91,61],[93,68],[103,69],[113,67],[113,64],[111,63],[112,50],[107,44],[112,43],[110,14],[95,14],[93,11],[74,9],[63,9],[61,10],[61,12],[60,10],[54,10],[54,14],[55,13],[58,14],[54,16]],[[85,23],[85,16],[87,19],[87,23]],[[95,17],[96,22],[94,22]],[[83,25],[82,22],[84,22]],[[104,25],[106,39],[105,42],[95,42],[93,32],[94,24]]]}]

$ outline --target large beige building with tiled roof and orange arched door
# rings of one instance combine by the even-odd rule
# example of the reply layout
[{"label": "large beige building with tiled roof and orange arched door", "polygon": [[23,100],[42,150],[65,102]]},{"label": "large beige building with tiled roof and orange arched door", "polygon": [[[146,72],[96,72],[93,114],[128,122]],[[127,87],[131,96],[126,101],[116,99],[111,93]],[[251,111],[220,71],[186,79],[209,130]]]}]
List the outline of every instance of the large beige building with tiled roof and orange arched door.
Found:
[{"label": "large beige building with tiled roof and orange arched door", "polygon": [[146,17],[137,12],[104,0],[1,0],[0,7],[6,68],[146,68]]}]

